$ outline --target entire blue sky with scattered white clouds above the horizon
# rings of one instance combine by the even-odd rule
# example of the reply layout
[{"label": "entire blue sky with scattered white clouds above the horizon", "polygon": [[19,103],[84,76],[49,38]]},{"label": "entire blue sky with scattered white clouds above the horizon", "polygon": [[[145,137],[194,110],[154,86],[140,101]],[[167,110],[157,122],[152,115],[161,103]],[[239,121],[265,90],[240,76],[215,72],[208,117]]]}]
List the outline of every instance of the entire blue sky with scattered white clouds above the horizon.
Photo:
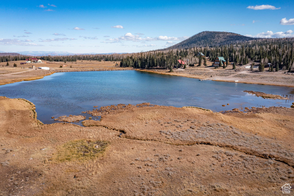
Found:
[{"label": "entire blue sky with scattered white clouds above the horizon", "polygon": [[0,51],[139,52],[201,31],[294,36],[294,1],[1,1]]}]

